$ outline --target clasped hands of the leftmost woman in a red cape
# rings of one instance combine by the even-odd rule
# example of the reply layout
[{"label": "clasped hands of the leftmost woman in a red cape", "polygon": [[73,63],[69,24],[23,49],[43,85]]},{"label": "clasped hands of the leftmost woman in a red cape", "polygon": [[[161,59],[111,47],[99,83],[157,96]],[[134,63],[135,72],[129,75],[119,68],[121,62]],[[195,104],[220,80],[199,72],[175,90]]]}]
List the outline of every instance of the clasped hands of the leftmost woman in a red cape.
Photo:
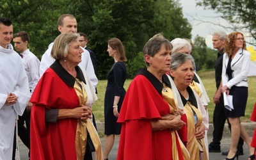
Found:
[{"label": "clasped hands of the leftmost woman in a red cape", "polygon": [[88,118],[92,118],[92,109],[89,106],[81,105],[71,109],[72,117],[86,122]]}]

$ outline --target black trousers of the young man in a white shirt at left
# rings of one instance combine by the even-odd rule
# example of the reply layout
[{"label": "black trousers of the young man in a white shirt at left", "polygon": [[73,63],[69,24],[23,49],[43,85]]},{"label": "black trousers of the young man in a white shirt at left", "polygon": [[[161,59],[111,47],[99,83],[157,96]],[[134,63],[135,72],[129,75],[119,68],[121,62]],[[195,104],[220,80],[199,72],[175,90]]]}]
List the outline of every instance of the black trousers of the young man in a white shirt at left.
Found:
[{"label": "black trousers of the young man in a white shirt at left", "polygon": [[[29,131],[30,131],[30,115],[31,111],[24,111],[22,116],[19,116],[18,120],[18,135],[20,137],[20,140],[26,147],[30,148],[30,137],[29,137]],[[26,127],[24,124],[26,123]],[[16,150],[16,127],[14,132],[14,139],[13,139],[13,160],[15,159],[15,150]]]}]

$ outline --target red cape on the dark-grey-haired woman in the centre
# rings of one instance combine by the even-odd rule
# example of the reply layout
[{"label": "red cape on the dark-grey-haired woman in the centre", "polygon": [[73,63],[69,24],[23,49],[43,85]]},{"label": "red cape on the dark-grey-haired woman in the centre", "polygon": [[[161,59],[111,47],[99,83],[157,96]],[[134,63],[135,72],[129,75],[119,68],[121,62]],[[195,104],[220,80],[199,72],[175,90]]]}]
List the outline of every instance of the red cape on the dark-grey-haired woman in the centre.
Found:
[{"label": "red cape on the dark-grey-haired woman in the centre", "polygon": [[[150,120],[170,113],[168,104],[147,77],[136,76],[125,95],[118,122],[122,123],[117,159],[172,159],[169,129],[152,131]],[[182,151],[179,143],[180,159]]]}]

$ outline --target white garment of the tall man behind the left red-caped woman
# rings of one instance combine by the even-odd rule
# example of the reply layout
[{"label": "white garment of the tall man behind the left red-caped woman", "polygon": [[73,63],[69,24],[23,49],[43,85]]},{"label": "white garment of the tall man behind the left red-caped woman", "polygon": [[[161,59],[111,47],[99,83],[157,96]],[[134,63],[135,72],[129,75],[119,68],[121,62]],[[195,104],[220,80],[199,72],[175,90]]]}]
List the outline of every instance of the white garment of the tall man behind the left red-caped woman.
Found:
[{"label": "white garment of the tall man behind the left red-caped woman", "polygon": [[[52,45],[53,45],[53,42],[49,44],[48,49],[45,51],[45,53],[42,56],[41,63],[40,63],[40,77],[42,77],[45,70],[47,70],[47,68],[49,68],[52,65],[52,63],[55,61],[54,58],[51,57]],[[83,47],[81,48],[83,49],[84,52],[82,53],[82,61],[78,65],[79,67],[84,68],[84,70],[86,70],[90,81],[92,82],[93,86],[96,87],[98,84],[98,79],[93,69],[90,53]]]}]

